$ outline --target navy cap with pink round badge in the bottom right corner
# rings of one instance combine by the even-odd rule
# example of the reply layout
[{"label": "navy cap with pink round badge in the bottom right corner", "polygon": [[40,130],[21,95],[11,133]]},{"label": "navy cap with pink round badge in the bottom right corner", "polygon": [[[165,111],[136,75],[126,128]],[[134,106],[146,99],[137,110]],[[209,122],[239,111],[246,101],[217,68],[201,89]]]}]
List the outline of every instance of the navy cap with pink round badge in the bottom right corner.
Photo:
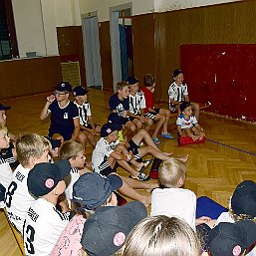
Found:
[{"label": "navy cap with pink round badge in the bottom right corner", "polygon": [[207,246],[212,256],[239,256],[256,242],[256,224],[251,220],[221,222],[210,230]]}]

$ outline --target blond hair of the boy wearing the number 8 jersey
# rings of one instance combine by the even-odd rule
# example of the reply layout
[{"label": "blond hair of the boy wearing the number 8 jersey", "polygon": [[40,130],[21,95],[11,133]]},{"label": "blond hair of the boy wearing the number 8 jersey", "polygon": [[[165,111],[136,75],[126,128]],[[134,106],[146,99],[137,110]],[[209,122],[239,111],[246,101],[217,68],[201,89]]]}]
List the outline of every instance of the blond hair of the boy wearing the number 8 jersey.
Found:
[{"label": "blond hair of the boy wearing the number 8 jersey", "polygon": [[45,151],[51,150],[50,141],[37,133],[25,132],[16,140],[17,157],[23,166],[29,164],[31,157],[40,158]]}]

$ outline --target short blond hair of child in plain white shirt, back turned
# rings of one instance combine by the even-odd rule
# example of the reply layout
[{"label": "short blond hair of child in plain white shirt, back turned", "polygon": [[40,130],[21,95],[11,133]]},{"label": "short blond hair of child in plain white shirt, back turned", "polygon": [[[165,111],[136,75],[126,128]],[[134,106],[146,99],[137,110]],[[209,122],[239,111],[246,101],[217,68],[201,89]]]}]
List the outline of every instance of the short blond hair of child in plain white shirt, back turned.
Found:
[{"label": "short blond hair of child in plain white shirt, back turned", "polygon": [[186,165],[179,159],[162,161],[159,166],[159,181],[164,187],[176,187],[180,178],[185,178]]}]

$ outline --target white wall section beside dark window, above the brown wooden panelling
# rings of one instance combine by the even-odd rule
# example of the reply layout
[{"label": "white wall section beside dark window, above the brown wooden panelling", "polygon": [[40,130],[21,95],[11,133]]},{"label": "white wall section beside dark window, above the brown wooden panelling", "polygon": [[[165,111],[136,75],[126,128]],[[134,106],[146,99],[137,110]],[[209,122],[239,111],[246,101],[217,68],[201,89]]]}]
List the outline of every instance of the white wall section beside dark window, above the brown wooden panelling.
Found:
[{"label": "white wall section beside dark window, above the brown wooden panelling", "polygon": [[52,0],[12,0],[20,57],[59,55]]}]

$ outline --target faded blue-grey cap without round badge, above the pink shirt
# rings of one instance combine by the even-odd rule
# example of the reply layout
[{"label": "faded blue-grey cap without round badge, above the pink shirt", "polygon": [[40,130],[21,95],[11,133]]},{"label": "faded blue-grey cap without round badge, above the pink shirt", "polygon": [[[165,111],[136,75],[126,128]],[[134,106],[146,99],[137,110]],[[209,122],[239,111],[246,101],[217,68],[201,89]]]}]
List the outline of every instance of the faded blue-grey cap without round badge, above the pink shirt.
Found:
[{"label": "faded blue-grey cap without round badge, above the pink shirt", "polygon": [[83,209],[94,210],[103,205],[112,192],[121,188],[123,180],[118,175],[103,176],[97,172],[87,172],[79,177],[73,186],[73,201]]}]

